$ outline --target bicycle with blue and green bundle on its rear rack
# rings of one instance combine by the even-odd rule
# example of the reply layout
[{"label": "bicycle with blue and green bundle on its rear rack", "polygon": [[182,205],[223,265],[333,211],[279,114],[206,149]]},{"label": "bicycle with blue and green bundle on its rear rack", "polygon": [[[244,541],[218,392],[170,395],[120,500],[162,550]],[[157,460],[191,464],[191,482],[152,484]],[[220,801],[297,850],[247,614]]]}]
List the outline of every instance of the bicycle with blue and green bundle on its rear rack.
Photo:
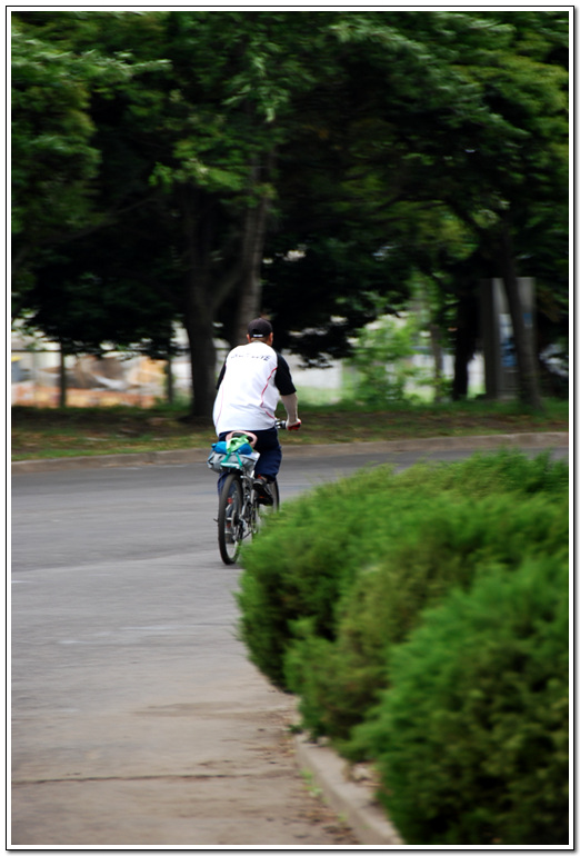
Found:
[{"label": "bicycle with blue and green bundle on its rear rack", "polygon": [[[287,422],[278,419],[278,429],[284,430]],[[231,442],[237,440],[237,442]],[[226,565],[237,560],[242,541],[253,538],[260,529],[262,515],[277,511],[280,506],[278,481],[270,482],[273,504],[262,505],[253,487],[256,462],[260,457],[253,450],[257,437],[251,431],[231,431],[227,441],[231,449],[210,455],[208,466],[220,472],[220,498],[218,504],[218,545]],[[220,446],[220,444],[217,444]]]}]

